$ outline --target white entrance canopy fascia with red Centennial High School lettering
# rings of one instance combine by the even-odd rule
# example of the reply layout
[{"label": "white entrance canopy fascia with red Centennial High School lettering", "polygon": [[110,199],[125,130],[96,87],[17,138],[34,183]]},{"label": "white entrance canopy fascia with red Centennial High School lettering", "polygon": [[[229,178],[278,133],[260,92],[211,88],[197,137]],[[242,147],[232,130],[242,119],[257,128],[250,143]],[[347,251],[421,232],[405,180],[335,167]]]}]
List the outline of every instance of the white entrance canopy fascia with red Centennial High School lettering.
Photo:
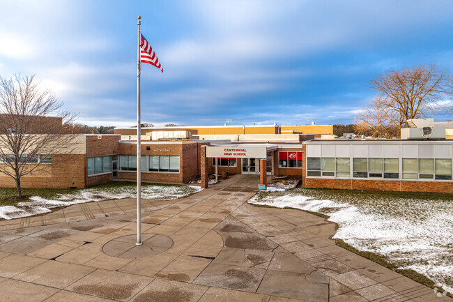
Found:
[{"label": "white entrance canopy fascia with red Centennial High School lettering", "polygon": [[275,145],[224,144],[206,146],[207,158],[261,158],[268,152],[277,150]]}]

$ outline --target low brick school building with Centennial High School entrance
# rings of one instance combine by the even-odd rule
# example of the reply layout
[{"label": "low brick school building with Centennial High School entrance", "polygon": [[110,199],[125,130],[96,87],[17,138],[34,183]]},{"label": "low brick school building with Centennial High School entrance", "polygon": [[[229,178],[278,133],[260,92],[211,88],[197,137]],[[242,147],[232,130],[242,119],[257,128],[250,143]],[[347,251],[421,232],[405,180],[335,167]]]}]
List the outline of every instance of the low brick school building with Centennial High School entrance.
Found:
[{"label": "low brick school building with Centennial High School entrance", "polygon": [[[259,175],[262,184],[277,176],[295,177],[303,188],[453,193],[453,139],[445,129],[434,133],[431,139],[321,139],[331,137],[332,126],[144,128],[137,159],[137,129],[123,128],[114,135],[77,135],[74,148],[38,156],[29,165],[43,163],[46,169],[22,177],[22,187],[86,188],[115,179],[135,181],[141,169],[142,181],[201,178],[204,188],[209,176],[227,172]],[[4,165],[11,158],[0,158],[0,165],[2,160]],[[15,186],[3,174],[0,183],[3,188]]]}]

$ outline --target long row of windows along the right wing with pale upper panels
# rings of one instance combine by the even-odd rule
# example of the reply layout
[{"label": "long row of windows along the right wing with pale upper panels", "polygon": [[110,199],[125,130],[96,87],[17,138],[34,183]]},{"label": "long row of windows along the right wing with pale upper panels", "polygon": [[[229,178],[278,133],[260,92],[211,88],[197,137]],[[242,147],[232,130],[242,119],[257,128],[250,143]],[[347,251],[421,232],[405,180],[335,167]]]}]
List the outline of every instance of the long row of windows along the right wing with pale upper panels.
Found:
[{"label": "long row of windows along the right wing with pale upper panels", "polygon": [[[451,159],[403,158],[403,179],[452,179]],[[351,177],[350,158],[307,158],[307,176]],[[398,158],[353,158],[353,177],[399,179]]]}]

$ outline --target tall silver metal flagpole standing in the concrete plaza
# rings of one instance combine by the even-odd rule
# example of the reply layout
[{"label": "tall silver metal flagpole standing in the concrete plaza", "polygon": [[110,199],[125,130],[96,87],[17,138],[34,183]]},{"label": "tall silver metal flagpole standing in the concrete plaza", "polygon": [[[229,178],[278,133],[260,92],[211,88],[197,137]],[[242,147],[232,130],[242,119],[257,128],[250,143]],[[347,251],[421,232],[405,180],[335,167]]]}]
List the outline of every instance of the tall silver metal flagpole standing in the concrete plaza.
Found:
[{"label": "tall silver metal flagpole standing in the concrete plaza", "polygon": [[140,34],[140,19],[138,17],[137,25],[139,27],[139,36],[138,36],[138,64],[137,64],[137,243],[135,245],[141,246],[141,121],[140,121],[140,43],[141,43],[141,34]]}]

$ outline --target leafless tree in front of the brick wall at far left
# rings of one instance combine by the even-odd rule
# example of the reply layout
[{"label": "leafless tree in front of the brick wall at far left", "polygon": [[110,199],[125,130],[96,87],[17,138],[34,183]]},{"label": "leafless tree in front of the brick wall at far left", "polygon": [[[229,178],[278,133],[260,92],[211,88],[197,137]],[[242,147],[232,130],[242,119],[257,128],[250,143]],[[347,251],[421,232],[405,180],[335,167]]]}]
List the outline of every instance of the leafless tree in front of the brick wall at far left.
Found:
[{"label": "leafless tree in front of the brick wall at far left", "polygon": [[17,198],[22,198],[22,176],[48,169],[43,164],[52,155],[72,146],[76,135],[66,131],[75,116],[62,106],[52,91],[40,89],[34,75],[0,77],[0,173],[15,180]]}]

